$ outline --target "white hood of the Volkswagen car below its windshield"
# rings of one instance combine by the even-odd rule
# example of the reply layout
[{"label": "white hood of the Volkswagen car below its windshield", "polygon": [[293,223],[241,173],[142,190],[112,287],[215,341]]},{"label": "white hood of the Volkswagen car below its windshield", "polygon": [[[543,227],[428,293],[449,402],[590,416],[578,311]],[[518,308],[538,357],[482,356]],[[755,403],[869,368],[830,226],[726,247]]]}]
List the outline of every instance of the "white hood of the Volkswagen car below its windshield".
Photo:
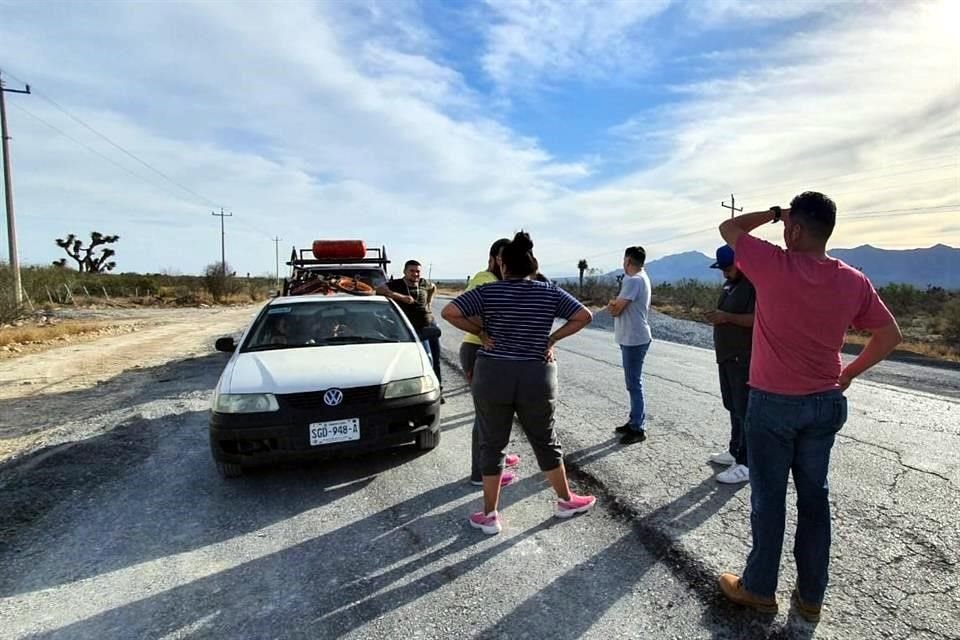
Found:
[{"label": "white hood of the Volkswagen car below its windshield", "polygon": [[416,342],[326,345],[237,353],[221,393],[304,393],[381,385],[432,373]]}]

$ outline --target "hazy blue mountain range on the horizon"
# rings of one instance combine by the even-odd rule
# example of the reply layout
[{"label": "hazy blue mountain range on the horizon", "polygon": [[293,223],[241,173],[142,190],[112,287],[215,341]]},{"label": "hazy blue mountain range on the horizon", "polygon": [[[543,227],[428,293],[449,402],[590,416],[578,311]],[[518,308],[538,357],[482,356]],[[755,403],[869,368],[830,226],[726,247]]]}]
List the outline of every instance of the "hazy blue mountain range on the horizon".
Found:
[{"label": "hazy blue mountain range on the horizon", "polygon": [[[925,249],[878,249],[863,245],[853,249],[830,249],[829,255],[863,271],[874,286],[890,283],[915,287],[960,289],[960,248],[937,244]],[[669,255],[647,264],[647,273],[654,284],[692,279],[705,282],[723,278],[718,269],[710,269],[714,259],[698,251]],[[601,277],[616,277],[617,269]]]}]

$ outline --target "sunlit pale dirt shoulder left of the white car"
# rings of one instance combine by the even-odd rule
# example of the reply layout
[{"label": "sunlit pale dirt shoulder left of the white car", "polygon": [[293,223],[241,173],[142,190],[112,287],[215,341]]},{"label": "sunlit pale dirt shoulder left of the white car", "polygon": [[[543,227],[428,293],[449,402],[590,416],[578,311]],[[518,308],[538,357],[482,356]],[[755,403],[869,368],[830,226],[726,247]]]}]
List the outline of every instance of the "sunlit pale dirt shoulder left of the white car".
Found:
[{"label": "sunlit pale dirt shoulder left of the white car", "polygon": [[[68,441],[71,423],[94,419],[144,385],[162,382],[163,365],[209,354],[213,341],[243,328],[258,305],[136,312],[81,312],[77,321],[103,325],[68,340],[27,345],[0,360],[0,464],[41,447]],[[125,382],[129,370],[156,371]],[[133,379],[133,378],[131,378]],[[106,406],[102,385],[118,386]],[[135,403],[134,403],[135,404]]]}]

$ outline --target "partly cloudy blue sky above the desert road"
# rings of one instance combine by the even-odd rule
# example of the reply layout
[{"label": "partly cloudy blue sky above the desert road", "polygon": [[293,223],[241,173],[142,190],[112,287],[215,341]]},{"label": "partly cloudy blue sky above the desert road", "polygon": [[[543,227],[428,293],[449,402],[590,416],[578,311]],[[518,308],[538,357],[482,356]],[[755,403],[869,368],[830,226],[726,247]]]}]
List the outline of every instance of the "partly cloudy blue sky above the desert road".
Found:
[{"label": "partly cloudy blue sky above the desert road", "polygon": [[241,273],[346,237],[462,277],[525,228],[561,275],[805,189],[836,246],[957,246],[958,6],[0,0],[21,258],[98,230],[196,273],[223,206]]}]

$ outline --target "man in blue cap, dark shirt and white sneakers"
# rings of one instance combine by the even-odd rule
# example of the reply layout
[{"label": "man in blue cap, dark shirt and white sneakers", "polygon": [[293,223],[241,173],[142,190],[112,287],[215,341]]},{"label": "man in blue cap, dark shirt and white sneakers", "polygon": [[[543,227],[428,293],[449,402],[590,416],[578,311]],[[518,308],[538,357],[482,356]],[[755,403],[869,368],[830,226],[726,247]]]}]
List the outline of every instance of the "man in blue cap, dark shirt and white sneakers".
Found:
[{"label": "man in blue cap, dark shirt and white sneakers", "polygon": [[723,245],[717,249],[717,261],[711,269],[721,269],[726,281],[717,302],[717,310],[707,314],[713,324],[713,348],[720,370],[720,394],[723,406],[730,412],[730,445],[727,451],[715,453],[710,461],[727,465],[717,474],[717,482],[739,484],[750,481],[747,466],[747,438],[743,423],[747,415],[750,389],[750,351],[753,345],[753,309],[757,293],[753,284],[737,269],[733,249]]}]

